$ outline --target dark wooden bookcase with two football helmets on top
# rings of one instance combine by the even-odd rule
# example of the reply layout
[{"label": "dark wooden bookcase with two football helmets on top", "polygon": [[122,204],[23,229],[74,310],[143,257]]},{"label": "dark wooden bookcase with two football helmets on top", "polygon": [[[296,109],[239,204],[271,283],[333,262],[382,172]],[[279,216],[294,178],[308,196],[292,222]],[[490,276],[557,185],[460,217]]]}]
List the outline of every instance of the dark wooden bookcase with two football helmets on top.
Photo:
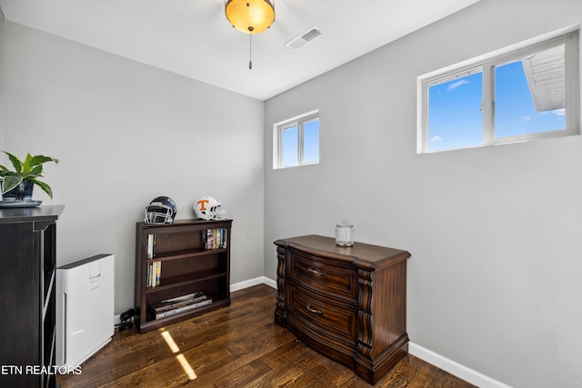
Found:
[{"label": "dark wooden bookcase with two football helmets on top", "polygon": [[[174,224],[137,223],[135,307],[140,333],[230,304],[230,231],[232,220],[179,220]],[[205,247],[207,231],[226,231],[226,247]],[[149,236],[152,237],[149,237]],[[155,244],[148,242],[154,239]],[[151,256],[151,257],[148,257]],[[159,282],[148,285],[148,266],[159,262]],[[156,319],[152,303],[202,292],[212,303]]]}]

